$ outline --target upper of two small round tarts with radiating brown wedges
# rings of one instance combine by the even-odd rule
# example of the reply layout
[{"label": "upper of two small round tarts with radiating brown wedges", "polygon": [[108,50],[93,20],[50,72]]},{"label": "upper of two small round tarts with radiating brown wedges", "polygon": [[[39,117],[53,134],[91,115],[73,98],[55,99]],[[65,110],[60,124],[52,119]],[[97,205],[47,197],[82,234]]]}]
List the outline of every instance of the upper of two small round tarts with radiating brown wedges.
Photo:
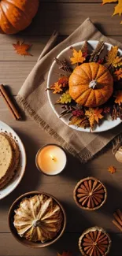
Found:
[{"label": "upper of two small round tarts with radiating brown wedges", "polygon": [[74,200],[83,210],[97,210],[107,198],[107,191],[100,180],[87,177],[76,184]]}]

